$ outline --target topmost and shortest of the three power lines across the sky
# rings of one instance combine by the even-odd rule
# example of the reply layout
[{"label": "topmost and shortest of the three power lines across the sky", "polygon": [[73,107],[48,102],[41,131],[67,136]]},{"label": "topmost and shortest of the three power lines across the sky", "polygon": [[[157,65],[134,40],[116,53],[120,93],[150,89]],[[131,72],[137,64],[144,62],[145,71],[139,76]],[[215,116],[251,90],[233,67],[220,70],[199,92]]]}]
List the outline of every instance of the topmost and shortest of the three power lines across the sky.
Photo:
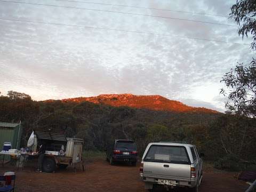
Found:
[{"label": "topmost and shortest of the three power lines across the sky", "polygon": [[170,11],[170,12],[180,12],[180,13],[192,13],[192,14],[199,14],[199,15],[209,15],[215,17],[226,17],[226,15],[219,15],[219,14],[209,14],[209,13],[198,13],[198,12],[191,12],[191,11],[179,11],[179,10],[170,10],[170,9],[157,9],[152,7],[143,7],[143,6],[130,6],[130,5],[119,5],[119,4],[108,4],[108,3],[94,3],[94,2],[83,2],[83,1],[69,1],[69,0],[54,0],[54,1],[61,1],[61,2],[71,2],[71,3],[86,3],[86,4],[97,4],[97,5],[110,5],[110,6],[121,6],[121,7],[131,7],[131,8],[139,8],[139,9],[149,9],[149,10],[158,10],[158,11]]}]

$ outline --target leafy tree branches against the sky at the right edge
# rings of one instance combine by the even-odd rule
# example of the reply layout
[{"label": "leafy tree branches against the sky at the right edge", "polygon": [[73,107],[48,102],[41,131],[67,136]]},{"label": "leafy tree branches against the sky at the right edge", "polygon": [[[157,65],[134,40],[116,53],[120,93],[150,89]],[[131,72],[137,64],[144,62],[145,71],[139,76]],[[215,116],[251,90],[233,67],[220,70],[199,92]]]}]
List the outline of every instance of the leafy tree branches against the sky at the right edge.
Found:
[{"label": "leafy tree branches against the sky at the right edge", "polygon": [[[231,7],[231,18],[239,26],[238,35],[252,35],[252,50],[256,50],[256,3],[255,0],[240,0]],[[256,60],[252,58],[249,66],[237,63],[235,69],[231,69],[221,82],[227,89],[220,93],[227,95],[226,108],[239,115],[255,117],[256,115]]]}]

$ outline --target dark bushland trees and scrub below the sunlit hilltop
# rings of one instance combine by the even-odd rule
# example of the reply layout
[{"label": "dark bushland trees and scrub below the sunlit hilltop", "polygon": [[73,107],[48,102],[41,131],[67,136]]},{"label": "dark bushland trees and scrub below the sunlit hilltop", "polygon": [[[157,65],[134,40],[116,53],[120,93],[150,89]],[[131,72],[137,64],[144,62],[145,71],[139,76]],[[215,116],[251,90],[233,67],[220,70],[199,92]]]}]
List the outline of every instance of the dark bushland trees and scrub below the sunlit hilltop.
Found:
[{"label": "dark bushland trees and scrub below the sunlit hilltop", "polygon": [[248,164],[256,159],[256,122],[243,116],[33,101],[29,95],[13,91],[2,95],[0,121],[20,120],[23,145],[32,130],[51,129],[84,139],[84,149],[90,150],[103,151],[115,139],[132,139],[142,154],[149,142],[187,141],[222,169],[240,169],[238,162]]}]

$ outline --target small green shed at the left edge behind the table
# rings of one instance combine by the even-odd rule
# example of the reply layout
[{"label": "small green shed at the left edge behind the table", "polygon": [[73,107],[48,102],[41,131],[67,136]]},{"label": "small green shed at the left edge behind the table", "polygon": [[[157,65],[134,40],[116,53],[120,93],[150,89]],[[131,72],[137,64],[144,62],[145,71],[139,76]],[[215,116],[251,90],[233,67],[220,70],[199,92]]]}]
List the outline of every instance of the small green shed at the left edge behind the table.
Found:
[{"label": "small green shed at the left edge behind the table", "polygon": [[0,151],[3,150],[4,142],[11,142],[12,149],[19,149],[21,133],[20,123],[0,122]]}]

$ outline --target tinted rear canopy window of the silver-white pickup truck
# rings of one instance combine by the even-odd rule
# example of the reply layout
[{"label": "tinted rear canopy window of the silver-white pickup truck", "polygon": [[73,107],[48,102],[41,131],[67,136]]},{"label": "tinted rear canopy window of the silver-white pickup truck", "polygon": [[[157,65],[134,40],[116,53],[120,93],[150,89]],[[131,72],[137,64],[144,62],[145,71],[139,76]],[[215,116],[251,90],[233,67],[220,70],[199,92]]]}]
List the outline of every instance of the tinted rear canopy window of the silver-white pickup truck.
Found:
[{"label": "tinted rear canopy window of the silver-white pickup truck", "polygon": [[190,164],[187,150],[183,146],[150,146],[144,158],[146,162]]}]

